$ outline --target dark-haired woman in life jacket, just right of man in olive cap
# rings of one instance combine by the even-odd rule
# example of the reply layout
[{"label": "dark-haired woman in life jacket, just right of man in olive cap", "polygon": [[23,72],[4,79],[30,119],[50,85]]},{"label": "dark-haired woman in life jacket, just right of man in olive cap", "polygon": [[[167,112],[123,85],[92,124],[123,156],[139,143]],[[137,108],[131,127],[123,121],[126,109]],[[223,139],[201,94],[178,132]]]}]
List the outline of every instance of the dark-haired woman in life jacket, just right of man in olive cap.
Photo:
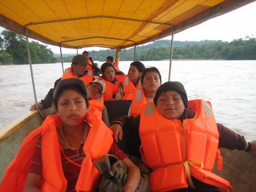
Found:
[{"label": "dark-haired woman in life jacket, just right of man in olive cap", "polygon": [[101,74],[98,79],[106,83],[106,91],[104,92],[104,100],[112,100],[116,94],[116,82],[123,79],[122,75],[115,75],[114,66],[111,63],[104,63],[101,66]]}]

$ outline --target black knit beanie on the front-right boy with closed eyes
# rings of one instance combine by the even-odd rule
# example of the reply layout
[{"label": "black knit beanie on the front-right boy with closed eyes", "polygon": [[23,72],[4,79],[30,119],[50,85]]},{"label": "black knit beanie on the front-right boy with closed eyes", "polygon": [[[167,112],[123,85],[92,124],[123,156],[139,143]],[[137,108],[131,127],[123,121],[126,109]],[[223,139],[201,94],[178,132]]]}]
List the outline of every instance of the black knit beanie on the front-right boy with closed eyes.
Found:
[{"label": "black knit beanie on the front-right boy with closed eyes", "polygon": [[185,108],[188,108],[188,97],[184,86],[178,81],[168,81],[162,84],[157,90],[156,95],[154,97],[154,104],[156,105],[156,101],[162,91],[176,91],[180,94]]}]

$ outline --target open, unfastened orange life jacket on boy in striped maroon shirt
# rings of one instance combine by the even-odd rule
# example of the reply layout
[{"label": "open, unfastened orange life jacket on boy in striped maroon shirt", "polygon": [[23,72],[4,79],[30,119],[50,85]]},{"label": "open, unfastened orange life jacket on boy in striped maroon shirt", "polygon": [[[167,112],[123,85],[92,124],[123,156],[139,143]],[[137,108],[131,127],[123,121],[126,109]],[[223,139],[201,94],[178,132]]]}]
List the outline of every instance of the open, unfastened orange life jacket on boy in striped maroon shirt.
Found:
[{"label": "open, unfastened orange life jacket on boy in striped maroon shirt", "polygon": [[[92,124],[90,132],[84,143],[84,158],[81,166],[80,175],[76,184],[76,191],[94,191],[98,184],[101,174],[92,164],[92,161],[103,154],[108,153],[112,143],[112,131],[90,110],[85,120]],[[42,180],[40,190],[66,191],[67,181],[64,177],[60,159],[60,145],[56,128],[62,124],[60,118],[55,114],[46,117],[42,126],[32,131],[22,142],[18,154],[6,168],[0,186],[1,192],[23,191],[24,184],[28,175],[36,143],[42,135]],[[72,160],[70,160],[72,162]],[[76,164],[75,162],[72,162]]]}]

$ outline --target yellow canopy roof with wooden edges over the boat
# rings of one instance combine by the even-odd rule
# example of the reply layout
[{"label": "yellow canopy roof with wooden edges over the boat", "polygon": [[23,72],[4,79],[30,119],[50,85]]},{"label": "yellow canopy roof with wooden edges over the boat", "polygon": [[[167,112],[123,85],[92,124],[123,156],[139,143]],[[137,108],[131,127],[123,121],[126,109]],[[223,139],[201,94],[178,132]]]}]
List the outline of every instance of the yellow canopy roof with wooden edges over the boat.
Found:
[{"label": "yellow canopy roof with wooden edges over the boat", "polygon": [[123,49],[198,25],[255,0],[1,0],[0,25],[66,48]]}]

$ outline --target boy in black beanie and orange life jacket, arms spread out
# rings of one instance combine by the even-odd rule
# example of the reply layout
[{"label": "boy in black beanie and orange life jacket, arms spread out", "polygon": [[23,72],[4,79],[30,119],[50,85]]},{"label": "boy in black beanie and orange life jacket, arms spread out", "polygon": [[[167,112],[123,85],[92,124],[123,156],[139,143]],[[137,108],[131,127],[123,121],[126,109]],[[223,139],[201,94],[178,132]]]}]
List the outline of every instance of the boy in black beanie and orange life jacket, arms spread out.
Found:
[{"label": "boy in black beanie and orange life jacket, arms spread out", "polygon": [[[115,142],[122,139],[122,130],[127,128],[138,130],[142,160],[152,169],[152,191],[192,192],[196,188],[200,192],[221,192],[219,188],[231,186],[210,172],[217,148],[256,151],[255,141],[246,142],[243,136],[215,122],[209,103],[188,102],[180,82],[162,84],[154,103],[145,104],[139,116],[114,120],[110,129]],[[156,154],[160,155],[156,158]]]}]

